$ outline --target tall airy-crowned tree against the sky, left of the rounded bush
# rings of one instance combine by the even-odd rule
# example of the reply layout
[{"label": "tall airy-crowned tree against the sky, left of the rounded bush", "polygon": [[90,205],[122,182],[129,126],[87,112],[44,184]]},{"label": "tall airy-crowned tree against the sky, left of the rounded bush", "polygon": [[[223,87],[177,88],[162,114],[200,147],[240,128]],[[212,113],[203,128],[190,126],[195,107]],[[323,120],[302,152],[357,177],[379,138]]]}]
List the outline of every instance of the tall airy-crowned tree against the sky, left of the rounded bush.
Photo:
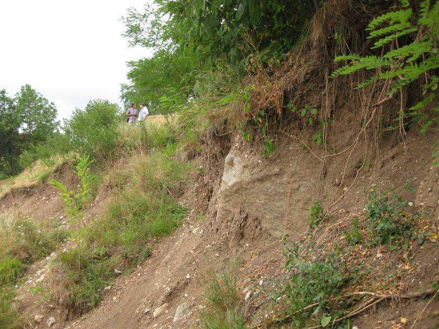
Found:
[{"label": "tall airy-crowned tree against the sky, left of the rounded bush", "polygon": [[24,135],[24,148],[30,143],[45,140],[58,127],[57,109],[30,85],[24,85],[16,94],[16,110],[20,116],[20,129]]}]

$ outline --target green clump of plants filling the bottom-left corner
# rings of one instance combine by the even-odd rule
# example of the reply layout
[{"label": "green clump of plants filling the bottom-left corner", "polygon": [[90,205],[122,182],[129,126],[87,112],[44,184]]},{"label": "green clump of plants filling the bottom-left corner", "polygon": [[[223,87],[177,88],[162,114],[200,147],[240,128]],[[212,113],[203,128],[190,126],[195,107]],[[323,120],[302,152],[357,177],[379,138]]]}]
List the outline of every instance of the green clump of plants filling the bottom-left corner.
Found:
[{"label": "green clump of plants filling the bottom-left corner", "polygon": [[17,311],[15,293],[11,288],[0,287],[0,328],[21,329],[24,317]]}]

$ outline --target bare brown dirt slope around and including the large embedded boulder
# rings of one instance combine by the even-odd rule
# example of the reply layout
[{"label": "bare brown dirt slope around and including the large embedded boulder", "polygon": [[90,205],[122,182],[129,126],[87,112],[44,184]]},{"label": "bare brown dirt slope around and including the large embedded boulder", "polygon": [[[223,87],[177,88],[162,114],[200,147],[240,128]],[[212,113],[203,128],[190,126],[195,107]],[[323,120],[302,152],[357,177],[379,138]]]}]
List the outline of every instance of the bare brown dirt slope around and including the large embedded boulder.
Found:
[{"label": "bare brown dirt slope around and including the large embedded boulder", "polygon": [[[413,207],[434,214],[438,224],[438,168],[431,165],[427,142],[438,135],[414,137],[415,132],[411,132],[405,144],[387,149],[362,174],[358,186],[334,209],[340,214],[334,221],[348,221],[350,215],[360,211],[366,201],[363,189],[375,186],[398,188]],[[67,328],[191,328],[197,325],[197,311],[203,307],[202,273],[206,273],[206,267],[212,265],[219,271],[225,263],[240,259],[242,291],[251,283],[282,274],[285,260],[278,233],[299,238],[307,229],[306,214],[320,194],[320,176],[313,170],[312,155],[299,144],[285,137],[278,145],[276,154],[265,159],[239,135],[231,137],[230,142],[206,140],[200,158],[206,172],[193,173],[196,185],[183,198],[193,209],[188,223],[160,243],[135,272],[118,278],[95,310],[69,322]],[[224,159],[221,162],[217,161],[220,157]],[[328,171],[337,172],[343,163],[336,160],[331,165]],[[331,175],[324,181],[323,188],[328,192],[323,195],[328,199],[337,188],[336,181],[337,177]],[[405,182],[416,191],[402,189]],[[202,220],[197,216],[200,211],[206,215]],[[438,280],[438,252],[438,244],[429,241],[412,251],[410,266],[414,270],[404,274],[405,291],[428,288],[428,282]],[[402,253],[386,254],[382,260],[372,256],[371,262],[378,266],[405,264]],[[395,321],[402,316],[413,320],[427,301],[382,303],[352,323],[362,329],[397,328],[393,327]],[[154,311],[162,305],[163,312],[154,317]],[[186,316],[173,322],[181,305],[187,306]],[[433,301],[426,314],[434,315],[438,307],[439,303]],[[421,319],[417,328],[435,328],[436,320]]]}]

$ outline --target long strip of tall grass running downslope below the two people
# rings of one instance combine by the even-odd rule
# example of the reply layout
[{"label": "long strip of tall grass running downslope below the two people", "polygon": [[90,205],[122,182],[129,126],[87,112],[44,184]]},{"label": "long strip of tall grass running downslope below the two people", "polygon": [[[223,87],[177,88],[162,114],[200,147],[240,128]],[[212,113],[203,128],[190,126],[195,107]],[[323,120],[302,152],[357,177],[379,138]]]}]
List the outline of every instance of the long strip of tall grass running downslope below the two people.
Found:
[{"label": "long strip of tall grass running downslope below the two people", "polygon": [[74,313],[94,307],[114,269],[128,270],[143,262],[155,240],[174,231],[186,214],[176,195],[189,165],[174,157],[175,130],[137,125],[124,128],[124,133],[130,135],[124,136],[122,158],[129,160],[108,173],[111,201],[78,231],[80,248],[61,253],[52,270],[53,301]]}]

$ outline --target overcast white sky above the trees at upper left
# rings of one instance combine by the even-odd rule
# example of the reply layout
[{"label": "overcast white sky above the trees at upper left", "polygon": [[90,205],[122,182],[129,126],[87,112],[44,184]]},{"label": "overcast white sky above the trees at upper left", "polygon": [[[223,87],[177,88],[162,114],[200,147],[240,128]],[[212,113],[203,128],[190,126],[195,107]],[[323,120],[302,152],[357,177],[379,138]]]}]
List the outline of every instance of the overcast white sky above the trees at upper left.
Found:
[{"label": "overcast white sky above the trees at upper left", "polygon": [[28,83],[58,108],[59,118],[89,99],[118,102],[126,62],[150,56],[129,48],[119,21],[152,0],[0,0],[0,89]]}]

